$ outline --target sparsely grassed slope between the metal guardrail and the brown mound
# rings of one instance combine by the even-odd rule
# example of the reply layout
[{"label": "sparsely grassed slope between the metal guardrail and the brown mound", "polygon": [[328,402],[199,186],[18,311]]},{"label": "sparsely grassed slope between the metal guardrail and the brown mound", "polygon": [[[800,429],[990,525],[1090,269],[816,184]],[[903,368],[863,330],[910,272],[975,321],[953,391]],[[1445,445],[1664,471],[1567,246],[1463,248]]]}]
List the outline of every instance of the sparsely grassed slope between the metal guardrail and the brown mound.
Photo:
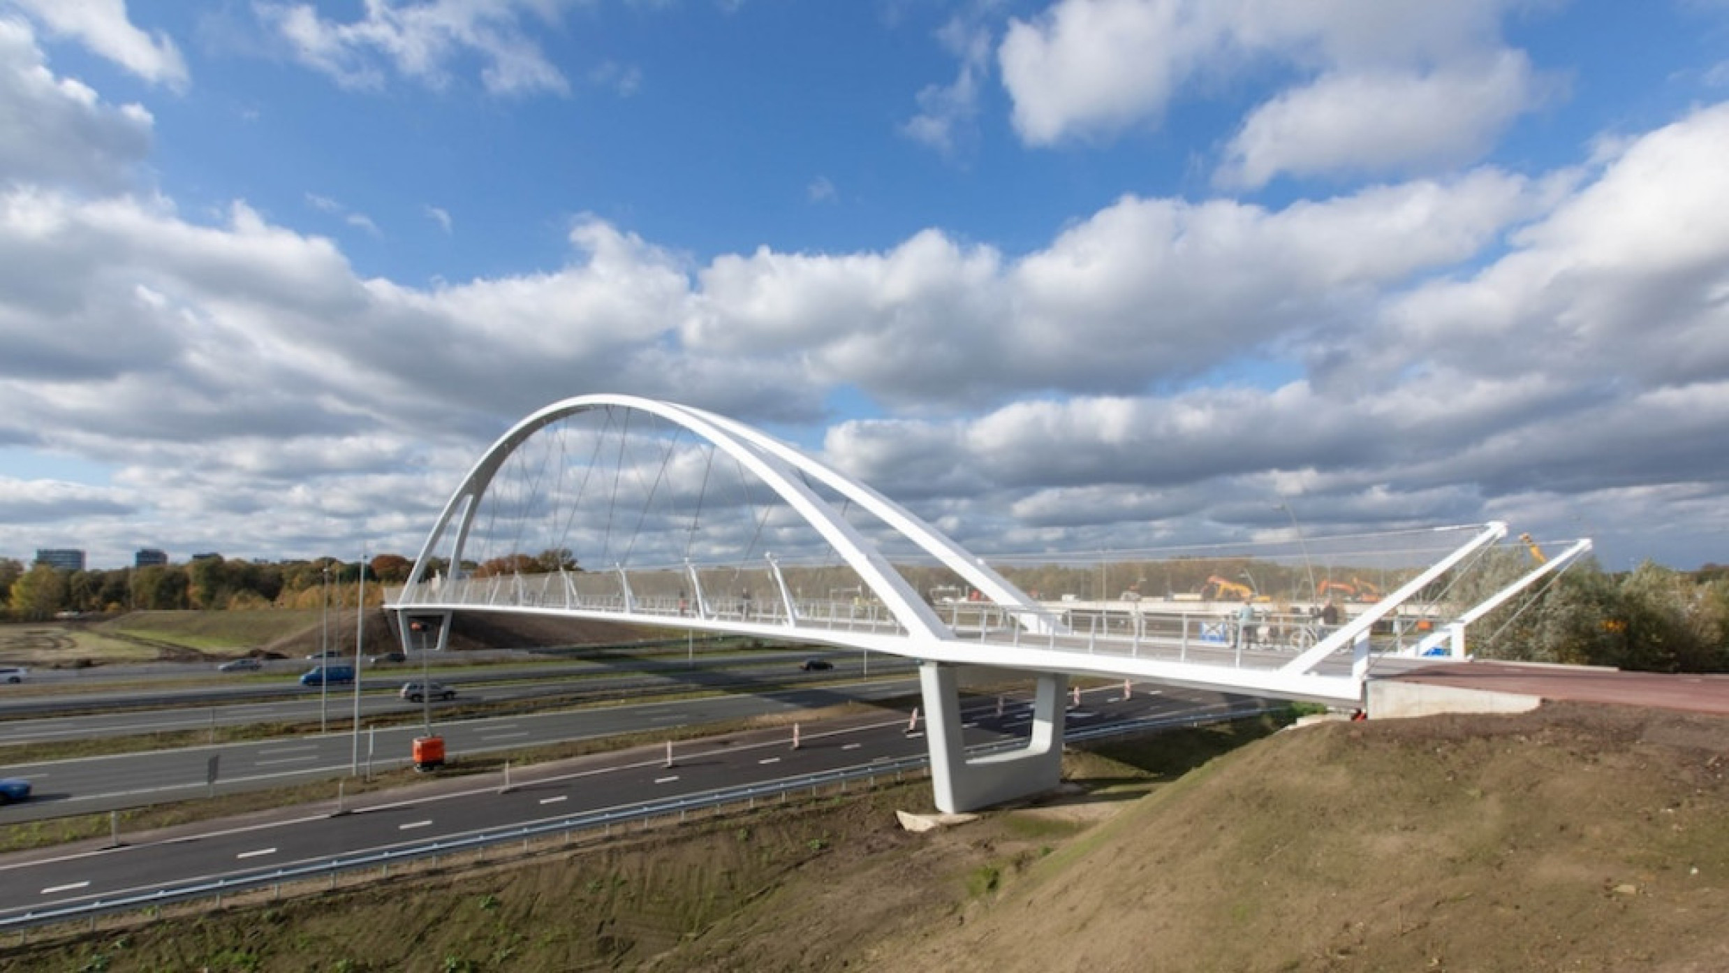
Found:
[{"label": "sparsely grassed slope between the metal guardrail and the brown mound", "polygon": [[909,781],[569,849],[444,861],[303,899],[259,895],[142,926],[38,933],[36,945],[0,951],[0,970],[565,971],[655,966],[655,968],[686,970],[704,964],[673,957],[704,949],[705,935],[740,921],[773,926],[788,909],[795,926],[761,930],[762,951],[711,968],[799,970],[859,945],[861,935],[908,933],[932,914],[996,897],[1101,814],[1269,726],[1119,745],[1120,754],[1139,752],[1146,767],[1074,754],[1067,774],[1089,792],[1086,804],[992,814],[939,835],[894,826],[896,809],[928,804],[928,785]]}]

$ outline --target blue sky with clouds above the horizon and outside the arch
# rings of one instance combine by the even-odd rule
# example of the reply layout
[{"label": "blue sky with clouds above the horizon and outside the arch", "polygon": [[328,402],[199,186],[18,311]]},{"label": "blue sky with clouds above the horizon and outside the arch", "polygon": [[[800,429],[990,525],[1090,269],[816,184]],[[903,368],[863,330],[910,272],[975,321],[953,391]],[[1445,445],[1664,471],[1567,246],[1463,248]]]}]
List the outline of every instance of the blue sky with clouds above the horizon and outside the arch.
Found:
[{"label": "blue sky with clouds above the horizon and outside the arch", "polygon": [[0,0],[0,556],[412,555],[591,392],[980,555],[1726,563],[1729,0]]}]

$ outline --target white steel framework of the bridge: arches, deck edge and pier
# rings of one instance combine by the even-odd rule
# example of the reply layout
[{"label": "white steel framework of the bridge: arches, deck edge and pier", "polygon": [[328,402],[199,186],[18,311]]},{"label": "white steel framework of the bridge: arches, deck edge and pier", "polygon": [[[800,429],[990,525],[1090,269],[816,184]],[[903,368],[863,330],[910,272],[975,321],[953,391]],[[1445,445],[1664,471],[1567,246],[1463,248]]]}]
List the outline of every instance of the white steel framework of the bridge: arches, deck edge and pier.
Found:
[{"label": "white steel framework of the bridge: arches, deck edge and pier", "polygon": [[[676,423],[724,451],[780,494],[813,529],[816,529],[840,558],[858,572],[882,605],[882,617],[870,617],[868,627],[856,617],[845,626],[830,619],[830,626],[814,624],[816,612],[801,612],[792,595],[780,582],[783,612],[773,617],[757,614],[730,617],[712,605],[700,586],[695,591],[695,614],[688,605],[678,610],[655,610],[654,605],[631,595],[626,569],[619,569],[617,607],[583,605],[574,600],[574,586],[562,584],[564,596],[553,598],[541,589],[515,579],[510,584],[479,586],[481,579],[453,574],[429,579],[427,565],[446,531],[455,527],[450,563],[460,565],[481,498],[503,467],[505,460],[534,432],[560,418],[600,408],[638,410]],[[835,491],[908,541],[935,556],[979,589],[998,612],[996,627],[980,633],[958,633],[932,605],[906,582],[892,563],[858,532],[840,512],[818,496],[801,477],[809,477]],[[505,432],[469,470],[451,494],[427,534],[415,558],[408,584],[389,600],[387,608],[398,615],[403,645],[410,639],[410,619],[437,615],[448,619],[453,612],[517,612],[560,617],[605,619],[638,622],[659,627],[681,627],[704,633],[728,633],[769,639],[797,639],[892,653],[920,660],[920,684],[927,714],[932,785],[935,804],[942,811],[972,811],[1048,790],[1058,783],[1063,719],[1060,696],[1069,676],[1100,676],[1112,679],[1139,679],[1177,686],[1209,688],[1219,691],[1260,695],[1276,698],[1317,700],[1335,705],[1361,705],[1368,631],[1376,617],[1394,610],[1430,579],[1458,563],[1470,551],[1506,534],[1504,524],[1485,527],[1470,543],[1449,555],[1442,563],[1413,579],[1375,610],[1366,612],[1342,627],[1330,639],[1298,658],[1248,658],[1236,650],[1231,658],[1221,658],[1217,646],[1191,650],[1186,643],[1171,650],[1153,643],[1136,641],[1131,652],[1120,645],[1082,639],[1069,631],[1051,610],[1020,591],[1006,577],[989,569],[980,558],[946,537],[935,527],[887,499],[845,474],[816,461],[756,429],[702,410],[641,399],[635,396],[579,396],[553,403]],[[780,579],[778,569],[776,581]],[[692,574],[695,579],[695,576]],[[494,579],[486,579],[494,581]],[[873,608],[875,612],[875,608]],[[1373,617],[1369,617],[1373,615]],[[1364,620],[1368,617],[1368,620]],[[1359,624],[1361,622],[1361,624]],[[984,615],[980,615],[984,626]],[[444,645],[448,626],[439,626],[439,646]],[[1349,671],[1323,672],[1323,664],[1343,646],[1354,648],[1356,664]],[[1145,652],[1143,652],[1145,648]],[[1174,655],[1174,657],[1172,657]],[[961,748],[960,696],[954,667],[987,665],[1015,669],[1036,679],[1036,721],[1029,743],[1010,754],[967,757]]]}]

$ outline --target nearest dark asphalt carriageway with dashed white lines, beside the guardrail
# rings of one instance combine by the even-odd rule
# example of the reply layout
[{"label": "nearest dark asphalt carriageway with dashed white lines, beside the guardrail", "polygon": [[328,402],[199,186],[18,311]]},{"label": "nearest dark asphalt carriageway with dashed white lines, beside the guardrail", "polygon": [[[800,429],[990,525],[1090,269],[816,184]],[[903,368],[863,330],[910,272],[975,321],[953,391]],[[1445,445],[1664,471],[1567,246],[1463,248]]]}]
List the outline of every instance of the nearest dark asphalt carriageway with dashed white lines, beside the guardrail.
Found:
[{"label": "nearest dark asphalt carriageway with dashed white lines, beside the guardrail", "polygon": [[[1127,719],[1181,719],[1191,714],[1228,715],[1259,709],[1259,700],[1215,693],[1086,693],[1070,710],[1074,726],[1105,726]],[[640,707],[641,719],[679,719],[664,710],[673,703]],[[636,707],[633,707],[636,709]],[[991,702],[968,709],[968,743],[989,743],[1025,731],[1030,707]],[[498,729],[498,728],[494,728]],[[859,767],[918,755],[922,735],[908,733],[901,717],[856,719],[802,735],[792,748],[785,731],[754,731],[730,738],[690,741],[667,766],[659,748],[638,748],[584,757],[524,771],[508,792],[488,774],[444,781],[417,797],[368,795],[346,814],[334,802],[285,809],[271,821],[211,823],[159,836],[137,836],[121,847],[47,849],[0,859],[0,916],[33,909],[154,894],[207,883],[216,878],[268,874],[297,862],[332,855],[431,843],[470,835],[595,812],[645,800],[704,793],[745,783],[771,783],[816,771]],[[126,840],[123,836],[123,840]]]}]

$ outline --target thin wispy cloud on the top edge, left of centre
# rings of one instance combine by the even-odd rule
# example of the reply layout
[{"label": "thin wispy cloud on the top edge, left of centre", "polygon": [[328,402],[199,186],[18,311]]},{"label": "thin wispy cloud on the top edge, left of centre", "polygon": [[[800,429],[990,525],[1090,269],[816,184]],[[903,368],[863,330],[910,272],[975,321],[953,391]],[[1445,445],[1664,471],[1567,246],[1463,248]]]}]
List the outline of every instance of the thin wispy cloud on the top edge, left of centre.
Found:
[{"label": "thin wispy cloud on the top edge, left of centre", "polygon": [[256,10],[296,59],[346,86],[375,88],[394,71],[437,88],[450,81],[451,62],[477,57],[481,83],[494,95],[571,90],[534,41],[534,26],[524,24],[555,24],[555,2],[375,0],[349,22],[325,19],[306,3],[259,3]]}]

